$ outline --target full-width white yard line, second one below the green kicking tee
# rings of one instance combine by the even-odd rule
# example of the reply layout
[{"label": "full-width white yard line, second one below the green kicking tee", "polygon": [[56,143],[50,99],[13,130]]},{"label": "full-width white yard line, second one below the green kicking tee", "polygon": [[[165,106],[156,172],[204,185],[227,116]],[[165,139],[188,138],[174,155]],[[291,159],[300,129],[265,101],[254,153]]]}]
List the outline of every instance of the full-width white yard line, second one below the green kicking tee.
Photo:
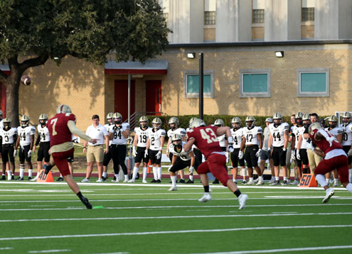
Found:
[{"label": "full-width white yard line, second one below the green kicking tee", "polygon": [[150,236],[161,234],[179,234],[179,233],[213,233],[213,232],[231,232],[231,231],[257,231],[257,230],[292,230],[292,229],[307,229],[307,228],[351,228],[352,225],[321,225],[321,226],[274,226],[274,227],[256,227],[256,228],[215,228],[215,229],[193,229],[181,231],[146,231],[146,232],[130,232],[130,233],[92,233],[85,235],[58,235],[58,236],[23,236],[23,237],[8,237],[0,238],[0,241],[26,241],[38,239],[54,239],[54,238],[86,238],[86,237],[101,237],[101,236]]}]

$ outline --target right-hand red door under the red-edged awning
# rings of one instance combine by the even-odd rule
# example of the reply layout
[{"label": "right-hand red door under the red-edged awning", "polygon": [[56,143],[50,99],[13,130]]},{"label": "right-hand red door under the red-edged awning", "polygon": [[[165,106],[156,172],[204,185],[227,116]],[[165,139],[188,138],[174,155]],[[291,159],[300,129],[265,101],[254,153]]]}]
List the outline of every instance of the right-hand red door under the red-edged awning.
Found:
[{"label": "right-hand red door under the red-edged awning", "polygon": [[146,80],[146,114],[161,116],[161,80]]}]

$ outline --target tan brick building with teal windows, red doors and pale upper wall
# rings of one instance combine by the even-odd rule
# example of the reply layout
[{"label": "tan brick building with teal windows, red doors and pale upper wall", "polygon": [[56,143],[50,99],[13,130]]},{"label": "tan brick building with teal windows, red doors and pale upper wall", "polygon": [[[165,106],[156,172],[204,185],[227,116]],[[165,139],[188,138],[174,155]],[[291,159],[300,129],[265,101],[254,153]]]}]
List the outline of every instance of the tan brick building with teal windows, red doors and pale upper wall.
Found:
[{"label": "tan brick building with teal windows, red doors and pale upper wall", "polygon": [[69,104],[83,129],[92,114],[119,111],[126,119],[128,74],[130,114],[198,114],[198,53],[204,114],[351,111],[352,1],[159,2],[174,31],[163,55],[145,65],[112,56],[102,67],[73,57],[60,67],[48,61],[26,72],[33,83],[21,86],[20,114],[36,123],[41,113]]}]

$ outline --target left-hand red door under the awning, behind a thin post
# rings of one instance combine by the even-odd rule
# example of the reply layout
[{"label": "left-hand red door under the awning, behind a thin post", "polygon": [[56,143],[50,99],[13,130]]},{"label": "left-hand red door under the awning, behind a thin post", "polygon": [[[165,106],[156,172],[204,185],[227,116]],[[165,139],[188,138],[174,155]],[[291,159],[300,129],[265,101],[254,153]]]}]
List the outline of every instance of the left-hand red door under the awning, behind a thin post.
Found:
[{"label": "left-hand red door under the awning, behind a thin post", "polygon": [[[134,114],[134,80],[131,80],[131,111]],[[128,118],[128,80],[115,80],[114,111],[122,114],[122,121]]]}]

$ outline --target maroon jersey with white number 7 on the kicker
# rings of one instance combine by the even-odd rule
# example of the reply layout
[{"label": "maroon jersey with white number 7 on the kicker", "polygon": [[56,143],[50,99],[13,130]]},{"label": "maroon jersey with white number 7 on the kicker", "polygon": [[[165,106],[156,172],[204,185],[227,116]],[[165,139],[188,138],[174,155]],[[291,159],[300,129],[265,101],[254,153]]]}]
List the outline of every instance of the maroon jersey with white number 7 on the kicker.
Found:
[{"label": "maroon jersey with white number 7 on the kicker", "polygon": [[76,116],[71,113],[60,113],[49,119],[50,147],[65,142],[72,142],[72,133],[68,128],[68,121],[75,122]]}]

